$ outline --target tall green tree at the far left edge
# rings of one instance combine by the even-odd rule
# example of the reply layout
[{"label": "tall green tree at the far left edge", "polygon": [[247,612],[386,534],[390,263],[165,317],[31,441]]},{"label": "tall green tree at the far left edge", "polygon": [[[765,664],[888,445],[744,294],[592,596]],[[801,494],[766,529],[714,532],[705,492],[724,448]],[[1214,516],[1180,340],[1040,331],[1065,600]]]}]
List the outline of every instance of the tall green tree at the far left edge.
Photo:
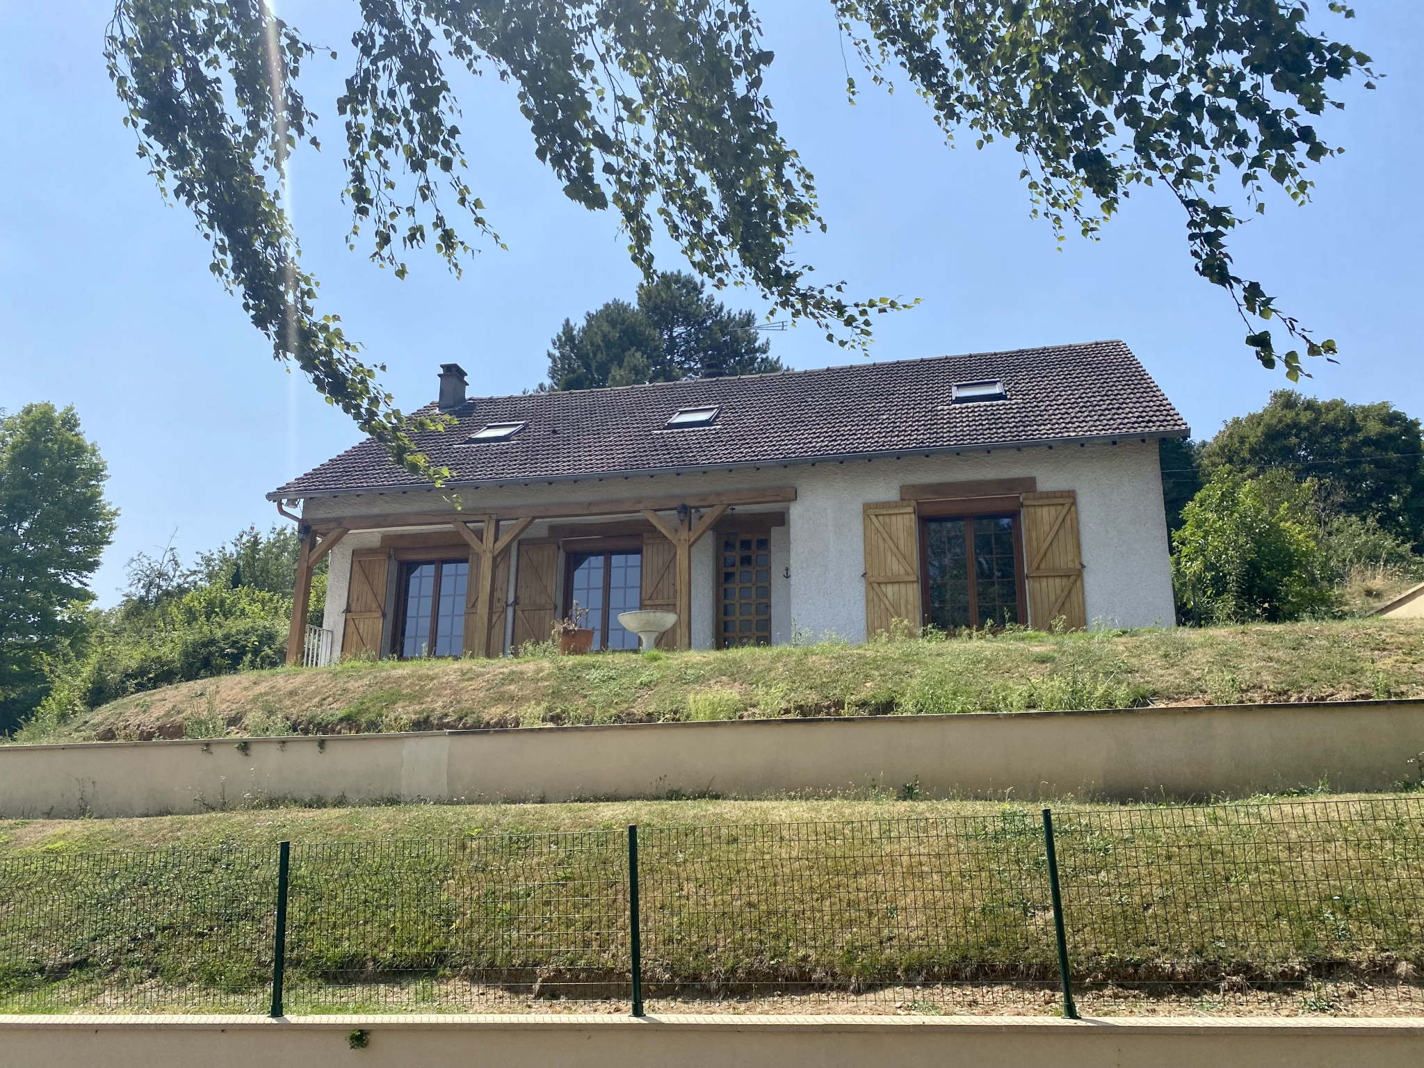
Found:
[{"label": "tall green tree at the far left edge", "polygon": [[[0,413],[3,416],[3,413]],[[0,733],[48,689],[114,537],[108,470],[73,407],[0,417]]]}]

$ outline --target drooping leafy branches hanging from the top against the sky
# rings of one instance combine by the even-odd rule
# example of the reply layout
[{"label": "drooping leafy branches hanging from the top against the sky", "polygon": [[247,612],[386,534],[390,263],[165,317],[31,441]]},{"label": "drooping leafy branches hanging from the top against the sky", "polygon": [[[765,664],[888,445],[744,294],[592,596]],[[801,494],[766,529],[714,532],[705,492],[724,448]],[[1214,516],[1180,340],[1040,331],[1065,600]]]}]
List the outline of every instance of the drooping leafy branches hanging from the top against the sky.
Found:
[{"label": "drooping leafy branches hanging from the top against the sky", "polygon": [[[1314,117],[1340,107],[1334,83],[1373,77],[1370,58],[1314,28],[1302,0],[829,3],[873,83],[899,70],[947,138],[967,131],[1020,152],[1034,211],[1059,235],[1092,235],[1132,191],[1165,187],[1198,273],[1229,292],[1265,366],[1302,373],[1270,319],[1307,355],[1334,350],[1236,273],[1227,249],[1267,187],[1309,198],[1309,165],[1336,151]],[[470,242],[500,242],[470,185],[447,77],[463,66],[518,87],[538,158],[570,199],[617,212],[645,278],[661,225],[698,275],[745,285],[833,342],[863,346],[873,313],[900,306],[815,283],[792,256],[796,235],[824,221],[812,172],[772,117],[773,53],[750,0],[360,0],[359,13],[335,101],[350,244],[369,242],[397,276],[407,252],[431,246],[459,271]],[[299,88],[315,54],[265,0],[118,0],[105,43],[140,155],[194,211],[212,272],[241,292],[273,355],[439,480],[409,437],[439,420],[394,407],[299,262],[283,181],[290,152],[319,145]],[[859,93],[849,77],[847,93]]]}]

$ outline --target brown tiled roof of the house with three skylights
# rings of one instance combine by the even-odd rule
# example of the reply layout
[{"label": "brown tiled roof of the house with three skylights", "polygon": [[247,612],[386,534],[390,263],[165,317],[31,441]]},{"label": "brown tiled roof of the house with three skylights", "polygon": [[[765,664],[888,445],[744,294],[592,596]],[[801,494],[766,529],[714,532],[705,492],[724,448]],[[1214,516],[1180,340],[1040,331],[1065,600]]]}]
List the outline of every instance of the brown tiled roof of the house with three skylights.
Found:
[{"label": "brown tiled roof of the house with three skylights", "polygon": [[[1007,399],[951,403],[954,383],[980,379],[1002,380]],[[678,409],[708,404],[721,406],[713,426],[662,430]],[[1122,342],[477,397],[453,414],[457,427],[416,441],[459,484],[1188,433]],[[510,441],[463,444],[487,423],[520,422]],[[367,439],[268,496],[424,484]]]}]

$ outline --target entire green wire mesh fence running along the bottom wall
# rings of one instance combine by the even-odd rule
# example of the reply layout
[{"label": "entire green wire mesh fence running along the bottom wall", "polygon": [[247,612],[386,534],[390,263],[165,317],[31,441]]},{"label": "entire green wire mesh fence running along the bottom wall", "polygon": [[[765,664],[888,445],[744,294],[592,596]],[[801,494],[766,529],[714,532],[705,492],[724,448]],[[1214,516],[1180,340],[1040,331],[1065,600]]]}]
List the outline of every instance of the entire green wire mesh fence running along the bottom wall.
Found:
[{"label": "entire green wire mesh fence running along the bottom wall", "polygon": [[[1017,806],[641,827],[632,867],[622,829],[293,843],[278,1011],[1047,1014],[1067,963],[1084,1014],[1424,1012],[1424,797],[1052,819],[1062,957]],[[11,852],[0,1011],[265,1012],[276,873]]]}]

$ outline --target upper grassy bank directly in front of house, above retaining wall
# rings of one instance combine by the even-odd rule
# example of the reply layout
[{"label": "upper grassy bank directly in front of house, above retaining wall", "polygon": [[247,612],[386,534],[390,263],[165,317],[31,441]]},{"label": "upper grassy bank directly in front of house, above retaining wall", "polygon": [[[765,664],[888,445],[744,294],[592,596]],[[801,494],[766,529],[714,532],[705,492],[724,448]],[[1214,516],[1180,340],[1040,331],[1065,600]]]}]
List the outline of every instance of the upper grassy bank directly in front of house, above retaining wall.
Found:
[{"label": "upper grassy bank directly in front of house, above retaining wall", "polygon": [[1424,696],[1424,621],[356,662],[135,693],[26,740],[1371,696]]}]

